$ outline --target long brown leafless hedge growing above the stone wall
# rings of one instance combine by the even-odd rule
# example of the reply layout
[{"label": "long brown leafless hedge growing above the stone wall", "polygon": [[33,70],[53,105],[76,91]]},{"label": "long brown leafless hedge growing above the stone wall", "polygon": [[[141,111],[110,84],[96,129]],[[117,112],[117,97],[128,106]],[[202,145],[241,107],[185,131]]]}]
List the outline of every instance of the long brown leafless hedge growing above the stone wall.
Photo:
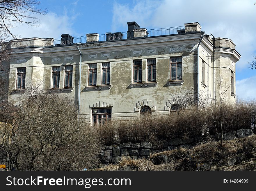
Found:
[{"label": "long brown leafless hedge growing above the stone wall", "polygon": [[[255,102],[240,101],[237,104],[223,104],[222,126],[223,132],[247,129],[251,125],[255,111]],[[215,122],[214,122],[215,121]],[[221,132],[220,109],[207,108],[205,110],[192,107],[189,110],[180,109],[170,113],[170,116],[146,116],[132,121],[115,121],[98,127],[99,137],[106,145],[114,143],[114,131],[119,135],[120,143],[124,142],[159,142],[170,138],[186,139],[201,136],[205,124],[209,124],[210,135]]]}]

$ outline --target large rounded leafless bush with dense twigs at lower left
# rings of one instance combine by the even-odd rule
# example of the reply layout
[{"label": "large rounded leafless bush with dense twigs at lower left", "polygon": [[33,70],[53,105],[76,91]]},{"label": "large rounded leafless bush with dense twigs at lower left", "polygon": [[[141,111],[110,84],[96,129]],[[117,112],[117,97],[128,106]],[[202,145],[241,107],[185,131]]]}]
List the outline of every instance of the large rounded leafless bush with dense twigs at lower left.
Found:
[{"label": "large rounded leafless bush with dense twigs at lower left", "polygon": [[[30,91],[34,92],[34,91]],[[23,98],[0,128],[1,151],[17,170],[81,170],[97,163],[100,142],[68,97],[39,92]]]}]

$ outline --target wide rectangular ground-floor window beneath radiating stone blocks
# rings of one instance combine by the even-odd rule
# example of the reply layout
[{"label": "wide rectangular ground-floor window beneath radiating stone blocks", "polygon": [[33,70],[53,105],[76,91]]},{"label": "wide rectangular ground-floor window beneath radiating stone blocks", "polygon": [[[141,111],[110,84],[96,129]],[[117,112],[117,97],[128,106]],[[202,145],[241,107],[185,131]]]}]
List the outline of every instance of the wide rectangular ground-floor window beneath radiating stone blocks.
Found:
[{"label": "wide rectangular ground-floor window beneath radiating stone blocks", "polygon": [[96,110],[96,113],[93,112],[94,125],[104,125],[107,121],[111,121],[111,108],[101,108]]}]

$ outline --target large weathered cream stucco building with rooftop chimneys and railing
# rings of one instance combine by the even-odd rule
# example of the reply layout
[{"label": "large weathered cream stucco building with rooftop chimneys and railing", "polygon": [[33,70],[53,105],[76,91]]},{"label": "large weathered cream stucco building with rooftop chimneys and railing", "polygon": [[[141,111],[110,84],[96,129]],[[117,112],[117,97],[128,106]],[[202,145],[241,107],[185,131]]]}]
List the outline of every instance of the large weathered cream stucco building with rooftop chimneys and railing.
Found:
[{"label": "large weathered cream stucco building with rooftop chimneys and railing", "polygon": [[102,123],[143,112],[169,115],[176,104],[170,94],[185,88],[212,100],[218,97],[220,79],[228,88],[225,98],[235,100],[235,65],[241,56],[232,40],[206,35],[198,23],[154,30],[127,24],[127,33],[8,42],[8,101],[18,104],[29,86],[40,84],[68,95],[75,105],[80,102],[80,115],[88,122],[95,117]]}]

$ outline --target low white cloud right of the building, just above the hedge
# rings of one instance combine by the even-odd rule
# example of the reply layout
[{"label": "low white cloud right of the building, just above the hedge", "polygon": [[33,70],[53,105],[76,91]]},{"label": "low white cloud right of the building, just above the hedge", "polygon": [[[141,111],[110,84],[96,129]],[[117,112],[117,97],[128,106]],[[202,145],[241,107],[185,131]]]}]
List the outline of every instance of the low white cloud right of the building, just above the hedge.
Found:
[{"label": "low white cloud right of the building, just above the hedge", "polygon": [[256,99],[256,76],[236,81],[238,99]]}]

